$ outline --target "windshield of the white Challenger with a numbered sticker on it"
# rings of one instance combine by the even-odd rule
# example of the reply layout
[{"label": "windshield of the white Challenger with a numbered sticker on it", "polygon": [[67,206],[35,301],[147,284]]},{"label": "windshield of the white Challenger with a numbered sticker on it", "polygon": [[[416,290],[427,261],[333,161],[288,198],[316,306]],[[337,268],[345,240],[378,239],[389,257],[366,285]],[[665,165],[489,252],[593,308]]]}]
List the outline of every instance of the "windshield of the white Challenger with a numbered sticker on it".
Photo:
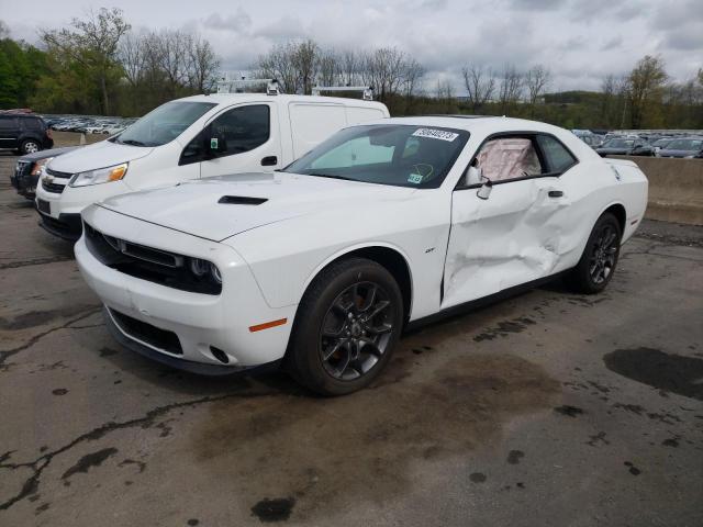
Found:
[{"label": "windshield of the white Challenger with a numbered sticker on it", "polygon": [[437,188],[469,138],[462,130],[383,124],[337,132],[286,172],[397,187]]}]

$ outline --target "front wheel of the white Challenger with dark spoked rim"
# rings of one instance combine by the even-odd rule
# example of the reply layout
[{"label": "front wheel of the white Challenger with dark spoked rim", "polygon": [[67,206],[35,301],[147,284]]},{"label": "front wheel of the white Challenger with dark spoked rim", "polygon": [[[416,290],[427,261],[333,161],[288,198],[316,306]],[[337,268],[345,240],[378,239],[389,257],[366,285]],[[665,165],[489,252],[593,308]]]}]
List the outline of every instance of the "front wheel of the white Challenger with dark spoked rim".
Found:
[{"label": "front wheel of the white Challenger with dark spoked rim", "polygon": [[287,368],[323,395],[355,392],[388,363],[402,323],[400,288],[386,268],[364,258],[332,264],[298,307]]}]

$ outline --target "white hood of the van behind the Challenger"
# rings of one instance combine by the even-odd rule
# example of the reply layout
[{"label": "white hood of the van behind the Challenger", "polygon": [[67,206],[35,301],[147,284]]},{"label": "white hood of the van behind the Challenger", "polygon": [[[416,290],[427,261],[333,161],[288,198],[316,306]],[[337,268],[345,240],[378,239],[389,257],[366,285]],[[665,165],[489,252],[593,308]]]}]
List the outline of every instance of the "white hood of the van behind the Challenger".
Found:
[{"label": "white hood of the van behind the Challenger", "polygon": [[138,159],[150,154],[153,149],[152,147],[120,145],[110,141],[101,141],[52,159],[49,168],[59,172],[85,172]]}]

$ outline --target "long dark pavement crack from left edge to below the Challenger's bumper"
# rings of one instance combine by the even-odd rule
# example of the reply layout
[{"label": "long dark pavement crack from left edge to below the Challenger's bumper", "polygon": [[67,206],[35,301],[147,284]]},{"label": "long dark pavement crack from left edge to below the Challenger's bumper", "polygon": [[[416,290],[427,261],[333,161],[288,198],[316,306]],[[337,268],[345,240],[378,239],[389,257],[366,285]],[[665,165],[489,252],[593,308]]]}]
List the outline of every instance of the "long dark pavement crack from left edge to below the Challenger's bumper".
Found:
[{"label": "long dark pavement crack from left edge to below the Challenger's bumper", "polygon": [[90,431],[87,431],[78,436],[72,441],[64,445],[63,447],[57,448],[54,451],[44,453],[43,456],[38,457],[34,461],[27,461],[23,463],[8,463],[4,461],[11,457],[12,451],[5,452],[2,456],[0,456],[0,470],[16,470],[16,469],[25,468],[25,469],[32,470],[32,475],[30,475],[24,481],[24,484],[22,485],[22,490],[18,494],[4,501],[3,503],[0,503],[0,511],[7,511],[18,502],[21,502],[22,500],[33,494],[36,494],[40,487],[42,472],[44,472],[44,470],[52,463],[54,458],[56,456],[59,456],[70,450],[77,445],[80,445],[81,442],[96,441],[112,431],[121,430],[125,428],[133,428],[135,426],[141,426],[142,428],[149,428],[150,426],[154,425],[154,422],[158,417],[161,417],[163,415],[166,415],[174,410],[183,408],[183,407],[193,407],[199,404],[214,403],[219,401],[224,401],[226,399],[233,399],[233,397],[238,397],[243,395],[246,395],[247,397],[260,397],[260,396],[268,396],[275,393],[277,392],[274,390],[269,390],[269,391],[259,391],[259,392],[248,391],[246,392],[246,394],[243,394],[242,390],[238,390],[236,392],[225,393],[223,395],[205,396],[205,397],[194,399],[190,401],[183,401],[180,403],[170,403],[164,406],[157,406],[156,408],[153,408],[149,412],[147,412],[146,415],[144,415],[143,417],[136,417],[134,419],[129,419],[121,423],[115,423],[115,422],[105,423],[104,425],[101,425],[97,428],[93,428]]}]

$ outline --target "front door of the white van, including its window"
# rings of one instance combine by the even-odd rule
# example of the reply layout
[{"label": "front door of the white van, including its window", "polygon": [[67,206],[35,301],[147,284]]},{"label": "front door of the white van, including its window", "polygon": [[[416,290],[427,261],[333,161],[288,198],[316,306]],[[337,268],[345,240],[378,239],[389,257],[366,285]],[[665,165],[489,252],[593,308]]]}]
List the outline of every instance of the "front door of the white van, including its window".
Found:
[{"label": "front door of the white van, including its window", "polygon": [[239,104],[202,131],[200,177],[274,171],[282,167],[279,119],[272,103]]}]

